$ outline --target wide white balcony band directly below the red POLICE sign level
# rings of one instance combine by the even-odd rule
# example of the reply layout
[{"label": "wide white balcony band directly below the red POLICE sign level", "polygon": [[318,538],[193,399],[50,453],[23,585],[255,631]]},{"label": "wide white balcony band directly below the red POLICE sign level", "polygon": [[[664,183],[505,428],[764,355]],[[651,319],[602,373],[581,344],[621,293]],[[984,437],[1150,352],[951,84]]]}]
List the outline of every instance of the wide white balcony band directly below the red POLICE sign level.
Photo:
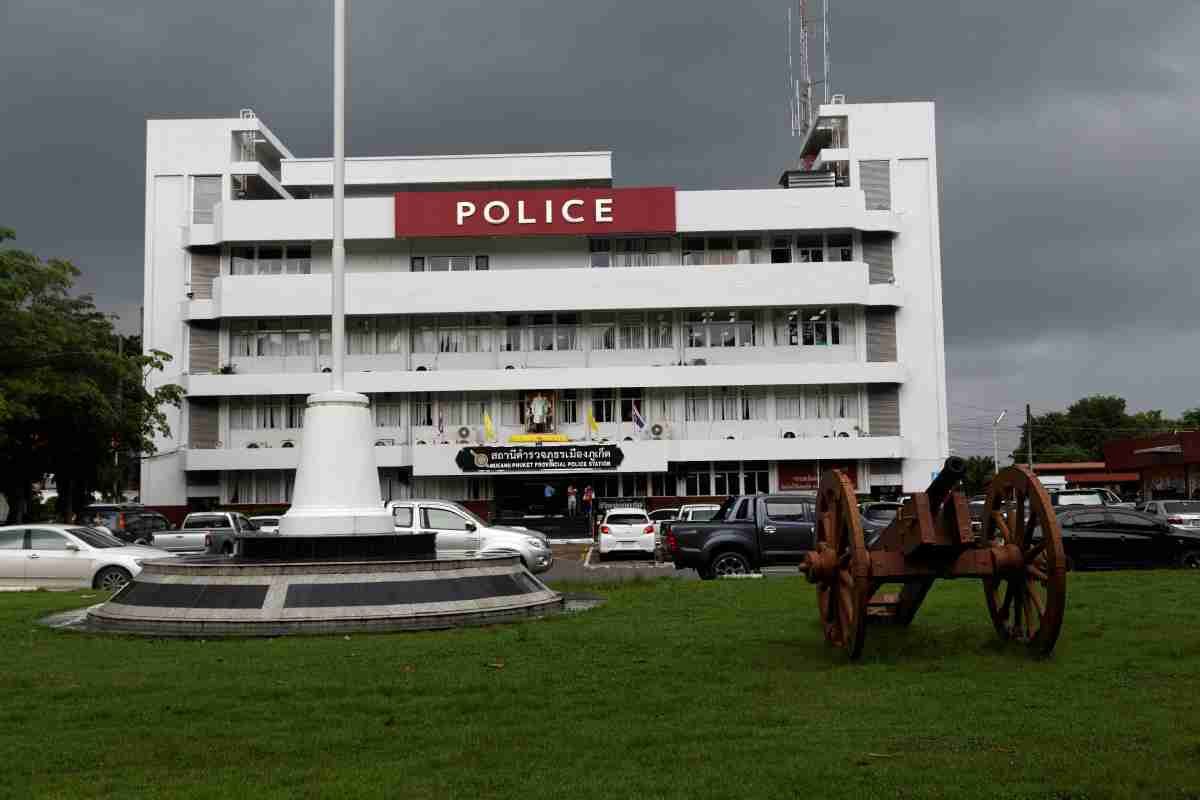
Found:
[{"label": "wide white balcony band directly below the red POLICE sign level", "polygon": [[[328,317],[329,294],[329,275],[222,275],[212,282],[212,300],[188,301],[184,317]],[[355,315],[786,303],[899,307],[904,291],[894,284],[871,284],[863,261],[346,276],[346,313]]]}]

